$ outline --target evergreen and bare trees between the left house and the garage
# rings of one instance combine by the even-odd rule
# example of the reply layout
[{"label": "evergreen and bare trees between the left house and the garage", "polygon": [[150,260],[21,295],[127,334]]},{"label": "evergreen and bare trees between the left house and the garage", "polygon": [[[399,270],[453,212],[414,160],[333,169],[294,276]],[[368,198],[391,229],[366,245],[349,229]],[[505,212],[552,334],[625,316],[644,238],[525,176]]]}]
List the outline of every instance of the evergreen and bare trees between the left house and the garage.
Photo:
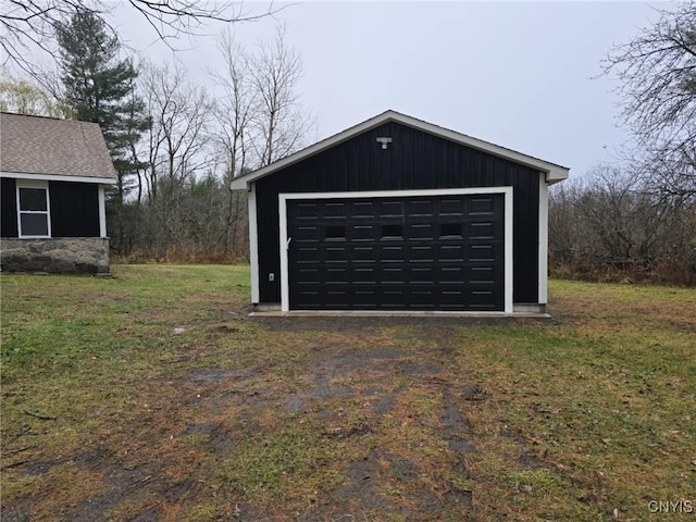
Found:
[{"label": "evergreen and bare trees between the left house and the garage", "polygon": [[5,73],[0,110],[101,126],[117,174],[107,191],[113,259],[246,259],[247,195],[232,192],[232,181],[296,151],[313,126],[284,28],[251,48],[227,29],[217,38],[222,65],[199,82],[178,63],[124,58],[89,9],[55,21],[53,35],[58,71],[39,82]]}]

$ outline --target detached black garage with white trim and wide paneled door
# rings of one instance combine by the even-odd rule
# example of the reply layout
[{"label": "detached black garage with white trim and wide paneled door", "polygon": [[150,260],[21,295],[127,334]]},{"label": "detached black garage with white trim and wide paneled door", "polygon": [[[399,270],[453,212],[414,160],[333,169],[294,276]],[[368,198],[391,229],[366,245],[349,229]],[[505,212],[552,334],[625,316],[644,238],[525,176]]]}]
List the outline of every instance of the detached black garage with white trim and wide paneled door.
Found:
[{"label": "detached black garage with white trim and wide paneled door", "polygon": [[387,111],[236,178],[257,310],[545,313],[569,169]]}]

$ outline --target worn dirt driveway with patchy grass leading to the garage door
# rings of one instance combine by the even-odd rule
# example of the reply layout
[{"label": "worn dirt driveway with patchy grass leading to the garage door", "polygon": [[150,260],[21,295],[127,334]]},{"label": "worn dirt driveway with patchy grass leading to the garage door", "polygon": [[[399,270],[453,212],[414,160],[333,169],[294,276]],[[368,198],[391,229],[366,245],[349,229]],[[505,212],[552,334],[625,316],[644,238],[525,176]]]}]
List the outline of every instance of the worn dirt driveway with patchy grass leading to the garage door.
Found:
[{"label": "worn dirt driveway with patchy grass leading to the garage door", "polygon": [[[58,513],[45,511],[54,499],[27,495],[3,521],[468,520],[469,411],[487,395],[451,364],[461,320],[238,314],[214,335],[234,339],[249,322],[284,338],[284,356],[153,381],[148,403],[107,421],[89,447],[17,465],[37,478],[72,465],[91,477],[85,494]],[[203,504],[215,512],[198,513]]]}]

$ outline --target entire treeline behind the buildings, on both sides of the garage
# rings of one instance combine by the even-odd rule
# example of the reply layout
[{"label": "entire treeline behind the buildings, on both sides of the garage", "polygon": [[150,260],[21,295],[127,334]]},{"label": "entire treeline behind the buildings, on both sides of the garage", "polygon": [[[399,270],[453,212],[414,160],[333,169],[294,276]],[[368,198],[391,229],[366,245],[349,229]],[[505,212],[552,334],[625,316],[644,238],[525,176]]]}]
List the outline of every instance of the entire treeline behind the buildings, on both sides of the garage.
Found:
[{"label": "entire treeline behind the buildings, on both sides of the garage", "polygon": [[[197,83],[181,66],[123,58],[99,12],[59,3],[60,17],[41,25],[58,71],[34,72],[38,84],[5,74],[0,109],[100,124],[117,172],[107,202],[114,259],[246,259],[246,195],[231,182],[298,150],[312,126],[283,29],[253,48],[221,35],[222,65]],[[624,166],[551,188],[555,276],[696,284],[696,1],[659,13],[602,62],[635,144]]]}]

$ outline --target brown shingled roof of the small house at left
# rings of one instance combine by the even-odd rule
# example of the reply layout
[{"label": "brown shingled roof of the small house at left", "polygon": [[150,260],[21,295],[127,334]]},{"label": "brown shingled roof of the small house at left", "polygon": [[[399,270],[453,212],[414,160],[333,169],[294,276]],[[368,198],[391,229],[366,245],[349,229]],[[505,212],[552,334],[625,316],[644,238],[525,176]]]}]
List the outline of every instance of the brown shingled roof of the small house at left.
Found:
[{"label": "brown shingled roof of the small house at left", "polygon": [[116,172],[97,123],[0,113],[0,175],[113,184]]}]

